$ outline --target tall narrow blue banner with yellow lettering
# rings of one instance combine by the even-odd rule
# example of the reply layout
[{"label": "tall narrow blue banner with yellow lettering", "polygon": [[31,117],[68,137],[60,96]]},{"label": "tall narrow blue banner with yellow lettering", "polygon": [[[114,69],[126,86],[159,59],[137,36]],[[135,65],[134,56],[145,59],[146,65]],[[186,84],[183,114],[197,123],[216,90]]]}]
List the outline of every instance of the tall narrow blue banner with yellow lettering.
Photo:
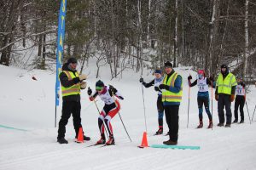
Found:
[{"label": "tall narrow blue banner with yellow lettering", "polygon": [[60,79],[61,65],[63,60],[63,44],[65,36],[65,18],[66,18],[67,0],[61,0],[61,8],[58,21],[58,39],[56,52],[56,83],[55,83],[55,106],[60,103]]}]

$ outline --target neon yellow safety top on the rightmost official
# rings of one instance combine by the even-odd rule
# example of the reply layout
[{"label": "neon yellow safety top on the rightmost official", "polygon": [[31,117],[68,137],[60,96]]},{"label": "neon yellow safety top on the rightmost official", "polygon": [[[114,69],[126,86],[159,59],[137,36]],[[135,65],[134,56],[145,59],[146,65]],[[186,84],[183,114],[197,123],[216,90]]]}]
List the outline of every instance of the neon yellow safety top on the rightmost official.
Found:
[{"label": "neon yellow safety top on the rightmost official", "polygon": [[216,82],[216,86],[218,86],[218,94],[231,94],[232,87],[236,85],[236,77],[232,73],[229,73],[224,79],[221,73],[218,75]]}]

